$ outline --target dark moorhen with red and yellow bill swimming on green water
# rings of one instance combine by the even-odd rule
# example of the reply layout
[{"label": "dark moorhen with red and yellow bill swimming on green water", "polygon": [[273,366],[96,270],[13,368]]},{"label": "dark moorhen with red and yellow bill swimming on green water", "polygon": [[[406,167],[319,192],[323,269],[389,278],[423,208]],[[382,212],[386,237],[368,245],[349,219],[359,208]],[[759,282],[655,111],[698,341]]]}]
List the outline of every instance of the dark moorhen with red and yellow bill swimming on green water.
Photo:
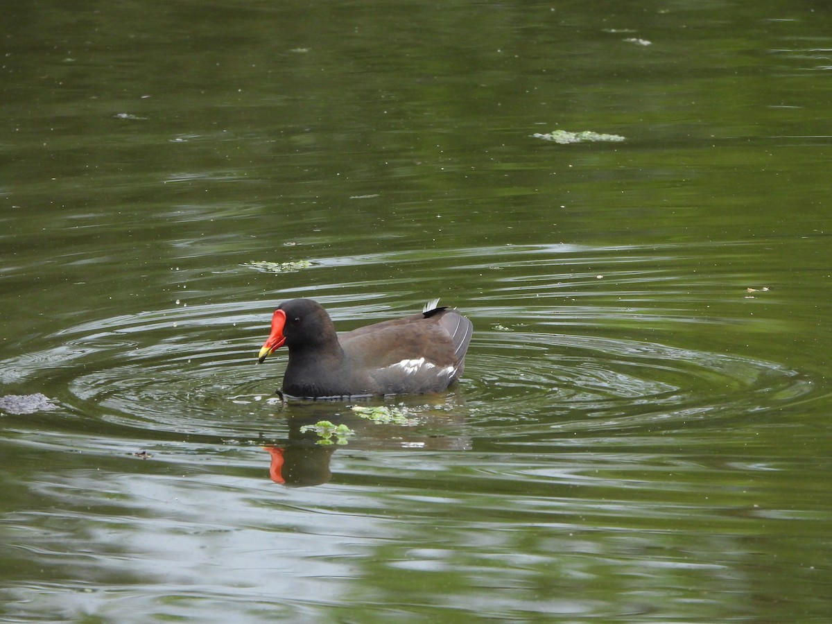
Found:
[{"label": "dark moorhen with red and yellow bill swimming on green water", "polygon": [[283,392],[293,397],[439,392],[463,374],[473,325],[438,302],[422,314],[339,335],[317,301],[286,301],[272,316],[260,363],[289,347]]}]

